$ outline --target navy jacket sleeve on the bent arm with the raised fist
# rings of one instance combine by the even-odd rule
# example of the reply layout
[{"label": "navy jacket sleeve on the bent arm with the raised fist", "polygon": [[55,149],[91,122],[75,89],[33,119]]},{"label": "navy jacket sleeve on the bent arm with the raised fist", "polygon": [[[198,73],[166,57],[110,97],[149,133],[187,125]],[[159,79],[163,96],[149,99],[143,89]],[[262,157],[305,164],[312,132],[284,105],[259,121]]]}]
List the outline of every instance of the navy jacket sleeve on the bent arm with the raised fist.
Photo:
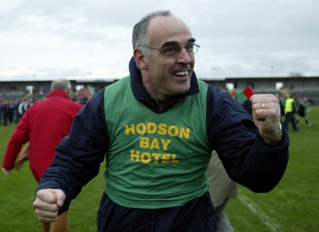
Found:
[{"label": "navy jacket sleeve on the bent arm with the raised fist", "polygon": [[289,137],[283,128],[275,146],[259,137],[250,115],[217,89],[208,92],[208,137],[229,177],[253,192],[268,192],[281,180],[288,165]]}]

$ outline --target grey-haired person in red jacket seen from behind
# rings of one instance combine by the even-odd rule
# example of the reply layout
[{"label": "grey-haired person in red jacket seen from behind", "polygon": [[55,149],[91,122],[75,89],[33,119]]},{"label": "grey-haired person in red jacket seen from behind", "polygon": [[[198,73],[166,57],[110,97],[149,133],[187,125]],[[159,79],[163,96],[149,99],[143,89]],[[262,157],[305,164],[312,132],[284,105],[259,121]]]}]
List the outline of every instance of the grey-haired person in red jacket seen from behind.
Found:
[{"label": "grey-haired person in red jacket seen from behind", "polygon": [[[49,96],[27,109],[6,147],[2,162],[4,174],[8,175],[14,169],[22,146],[29,142],[22,151],[24,158],[29,159],[33,177],[39,182],[52,163],[55,146],[70,133],[72,121],[82,107],[70,99],[70,93],[70,81],[63,78],[53,80]],[[19,158],[18,163],[21,155]],[[42,223],[42,231],[67,232],[67,214],[60,215],[54,223]]]}]

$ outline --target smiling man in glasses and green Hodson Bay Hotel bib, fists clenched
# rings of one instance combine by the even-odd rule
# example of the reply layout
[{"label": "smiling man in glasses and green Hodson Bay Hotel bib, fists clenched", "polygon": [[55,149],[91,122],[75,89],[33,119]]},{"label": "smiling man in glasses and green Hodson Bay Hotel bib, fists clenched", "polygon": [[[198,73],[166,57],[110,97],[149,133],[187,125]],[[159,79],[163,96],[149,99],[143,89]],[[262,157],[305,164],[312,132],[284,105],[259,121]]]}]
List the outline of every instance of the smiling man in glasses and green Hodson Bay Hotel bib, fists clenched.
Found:
[{"label": "smiling man in glasses and green Hodson Bay Hotel bib, fists clenched", "polygon": [[68,209],[106,157],[98,232],[214,232],[207,167],[217,151],[227,174],[268,192],[288,163],[278,101],[254,95],[253,120],[193,72],[195,44],[169,11],[133,28],[130,76],[97,93],[56,147],[33,203],[41,221]]}]

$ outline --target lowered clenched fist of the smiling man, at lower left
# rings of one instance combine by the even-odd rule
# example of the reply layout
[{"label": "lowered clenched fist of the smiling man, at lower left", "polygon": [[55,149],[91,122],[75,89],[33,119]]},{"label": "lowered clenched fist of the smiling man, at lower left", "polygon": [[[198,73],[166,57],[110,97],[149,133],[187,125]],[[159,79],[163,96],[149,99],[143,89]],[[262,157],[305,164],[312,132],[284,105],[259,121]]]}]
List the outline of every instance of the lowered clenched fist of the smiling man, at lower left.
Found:
[{"label": "lowered clenched fist of the smiling man, at lower left", "polygon": [[36,193],[33,207],[38,219],[42,222],[54,222],[58,210],[63,206],[65,194],[61,189],[41,189]]}]

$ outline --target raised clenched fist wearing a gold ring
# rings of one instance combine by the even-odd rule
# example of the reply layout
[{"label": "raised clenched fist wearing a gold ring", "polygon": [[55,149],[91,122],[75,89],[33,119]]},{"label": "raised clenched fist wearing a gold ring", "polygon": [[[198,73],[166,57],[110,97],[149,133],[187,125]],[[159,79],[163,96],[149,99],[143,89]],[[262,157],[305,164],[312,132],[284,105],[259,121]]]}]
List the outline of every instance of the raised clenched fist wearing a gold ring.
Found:
[{"label": "raised clenched fist wearing a gold ring", "polygon": [[253,107],[253,120],[259,132],[270,135],[278,131],[280,118],[278,100],[272,94],[255,94],[250,102]]}]

